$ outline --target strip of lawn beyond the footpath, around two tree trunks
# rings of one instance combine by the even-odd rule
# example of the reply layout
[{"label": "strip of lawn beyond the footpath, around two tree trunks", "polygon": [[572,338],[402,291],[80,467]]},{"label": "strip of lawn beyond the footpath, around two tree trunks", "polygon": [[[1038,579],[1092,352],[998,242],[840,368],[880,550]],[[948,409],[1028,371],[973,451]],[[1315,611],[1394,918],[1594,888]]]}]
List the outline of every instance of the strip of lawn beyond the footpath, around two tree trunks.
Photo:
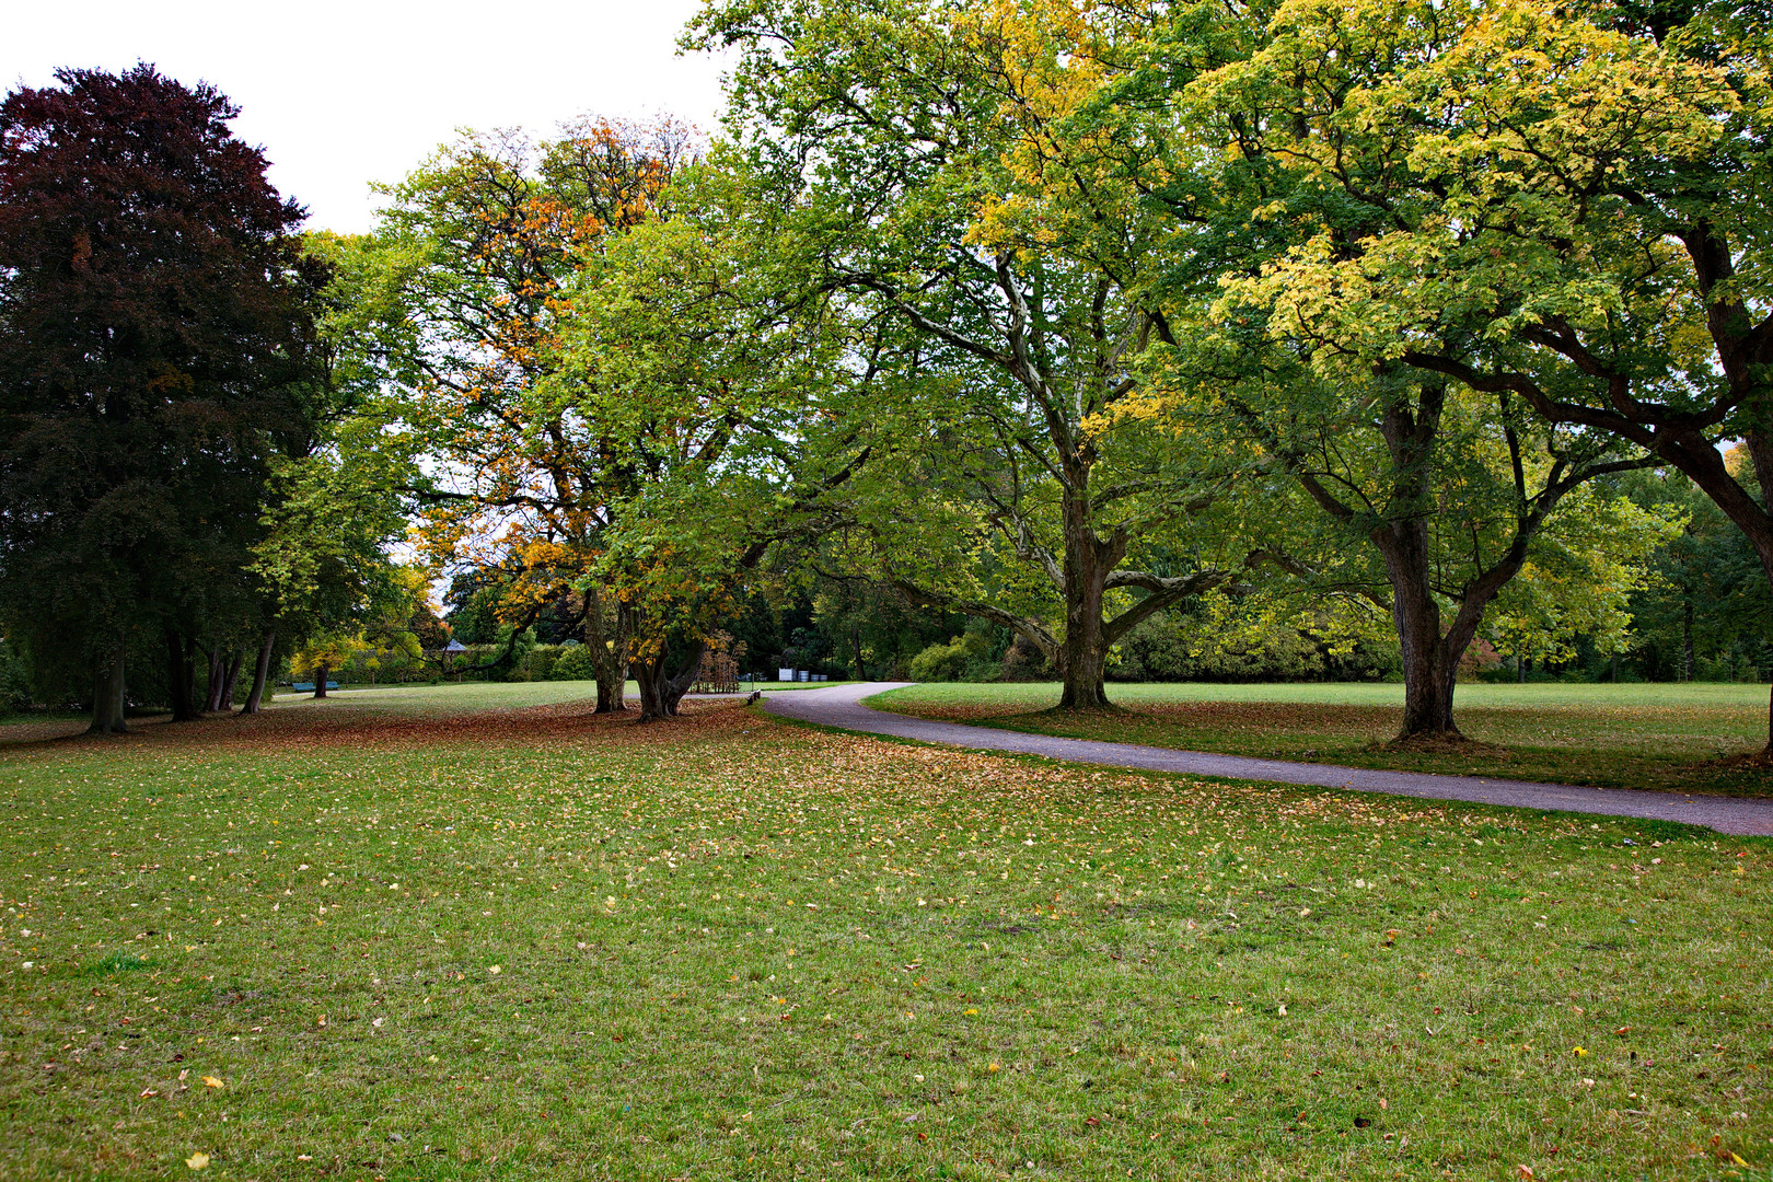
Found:
[{"label": "strip of lawn beyond the footpath, around two tree trunks", "polygon": [[1402,719],[1394,684],[1110,686],[1121,711],[1058,714],[1057,684],[922,684],[871,705],[1066,735],[1227,755],[1505,776],[1548,783],[1766,796],[1773,773],[1730,762],[1768,737],[1768,688],[1743,684],[1459,686],[1470,748],[1388,744]]}]

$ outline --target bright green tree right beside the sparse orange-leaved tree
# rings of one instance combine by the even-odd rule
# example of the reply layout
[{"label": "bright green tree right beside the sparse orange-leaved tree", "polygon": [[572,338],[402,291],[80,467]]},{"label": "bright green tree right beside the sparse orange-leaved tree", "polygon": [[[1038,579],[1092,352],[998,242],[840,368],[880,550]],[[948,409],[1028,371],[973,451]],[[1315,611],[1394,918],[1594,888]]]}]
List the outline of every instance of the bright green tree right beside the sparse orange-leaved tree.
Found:
[{"label": "bright green tree right beside the sparse orange-leaved tree", "polygon": [[642,721],[670,718],[711,638],[778,542],[828,533],[869,455],[867,324],[771,248],[777,193],[741,161],[686,170],[674,216],[612,243],[567,285],[548,416],[594,438],[610,496],[580,583],[628,613]]}]

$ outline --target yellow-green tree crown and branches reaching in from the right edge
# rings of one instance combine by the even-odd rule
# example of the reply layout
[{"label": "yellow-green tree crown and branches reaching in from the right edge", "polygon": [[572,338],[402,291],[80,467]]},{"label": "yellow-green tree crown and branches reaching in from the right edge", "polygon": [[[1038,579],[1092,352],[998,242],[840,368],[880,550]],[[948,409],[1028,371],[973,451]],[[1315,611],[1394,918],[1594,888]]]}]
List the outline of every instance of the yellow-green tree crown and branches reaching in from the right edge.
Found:
[{"label": "yellow-green tree crown and branches reaching in from the right edge", "polygon": [[[1314,206],[1271,280],[1340,354],[1509,393],[1679,470],[1773,579],[1768,25],[1725,4],[1300,4],[1230,71]],[[1328,66],[1328,69],[1324,69]],[[1227,78],[1232,82],[1232,78]],[[1358,252],[1321,211],[1374,211]],[[1773,751],[1773,712],[1769,712]]]}]

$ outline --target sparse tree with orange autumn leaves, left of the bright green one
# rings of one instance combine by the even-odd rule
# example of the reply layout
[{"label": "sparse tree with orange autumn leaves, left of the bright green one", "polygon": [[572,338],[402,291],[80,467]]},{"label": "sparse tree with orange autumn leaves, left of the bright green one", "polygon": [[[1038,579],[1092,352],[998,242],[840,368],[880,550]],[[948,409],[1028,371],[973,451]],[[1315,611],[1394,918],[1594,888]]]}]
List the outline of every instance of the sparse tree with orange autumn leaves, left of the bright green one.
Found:
[{"label": "sparse tree with orange autumn leaves, left of the bright green one", "polygon": [[555,140],[470,135],[387,190],[351,259],[356,330],[431,459],[415,484],[433,562],[498,571],[493,613],[521,631],[583,583],[598,711],[621,711],[631,620],[587,571],[619,489],[601,439],[541,400],[562,285],[628,229],[663,216],[684,128],[582,121]]}]

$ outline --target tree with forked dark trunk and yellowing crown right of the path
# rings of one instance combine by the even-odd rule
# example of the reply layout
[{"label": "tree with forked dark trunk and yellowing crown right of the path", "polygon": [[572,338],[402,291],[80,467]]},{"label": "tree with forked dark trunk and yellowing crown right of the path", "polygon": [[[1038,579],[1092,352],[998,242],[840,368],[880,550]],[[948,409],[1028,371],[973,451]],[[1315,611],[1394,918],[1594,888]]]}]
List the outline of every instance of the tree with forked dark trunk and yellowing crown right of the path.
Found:
[{"label": "tree with forked dark trunk and yellowing crown right of the path", "polygon": [[[1431,5],[1397,21],[1340,12],[1296,4],[1271,21],[1193,9],[1158,19],[1108,71],[1099,101],[1124,110],[1117,144],[1131,145],[1106,151],[1108,172],[1174,227],[1168,261],[1147,266],[1168,328],[1147,365],[1165,393],[1184,392],[1190,431],[1234,427],[1344,542],[1376,551],[1383,594],[1371,583],[1363,594],[1399,636],[1399,739],[1457,737],[1459,659],[1558,503],[1649,461],[1606,434],[1548,429],[1507,390],[1401,360],[1395,315],[1349,317],[1371,349],[1328,326],[1356,278],[1386,275],[1390,230],[1441,216],[1433,193],[1410,190],[1395,151],[1434,119],[1429,96],[1418,96],[1425,113],[1394,108],[1394,122],[1346,96],[1378,90],[1447,21]],[[1463,358],[1486,347],[1470,326],[1449,328],[1441,346]],[[1273,525],[1268,514],[1257,530]],[[1308,562],[1273,544],[1261,556],[1319,585],[1347,578],[1333,546]]]}]

